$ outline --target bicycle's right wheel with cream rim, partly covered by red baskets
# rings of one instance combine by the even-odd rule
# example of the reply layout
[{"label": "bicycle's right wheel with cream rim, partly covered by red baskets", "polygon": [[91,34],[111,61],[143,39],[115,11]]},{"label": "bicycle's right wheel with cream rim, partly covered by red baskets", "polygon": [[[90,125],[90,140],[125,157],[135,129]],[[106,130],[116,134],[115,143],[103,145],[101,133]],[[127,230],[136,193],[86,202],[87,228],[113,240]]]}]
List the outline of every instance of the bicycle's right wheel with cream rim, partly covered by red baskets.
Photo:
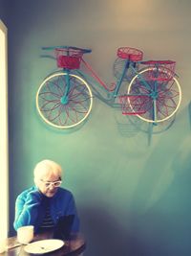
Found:
[{"label": "bicycle's right wheel with cream rim, partly covered by red baskets", "polygon": [[[162,75],[169,71],[159,70],[159,72]],[[169,81],[154,81],[150,74],[151,68],[140,71],[130,82],[127,93],[142,96],[140,105],[142,114],[137,114],[138,118],[149,123],[164,122],[175,115],[180,107],[180,83],[175,77]],[[131,102],[130,106],[133,108]]]}]

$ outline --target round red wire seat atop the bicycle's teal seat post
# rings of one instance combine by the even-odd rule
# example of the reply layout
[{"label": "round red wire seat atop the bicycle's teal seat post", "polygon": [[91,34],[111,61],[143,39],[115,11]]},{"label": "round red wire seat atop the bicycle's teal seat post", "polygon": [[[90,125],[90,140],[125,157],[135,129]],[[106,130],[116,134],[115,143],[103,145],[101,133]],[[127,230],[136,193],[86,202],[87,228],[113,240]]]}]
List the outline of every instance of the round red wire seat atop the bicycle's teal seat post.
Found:
[{"label": "round red wire seat atop the bicycle's teal seat post", "polygon": [[132,61],[139,61],[142,59],[143,53],[136,48],[120,47],[117,50],[117,57],[126,58]]}]

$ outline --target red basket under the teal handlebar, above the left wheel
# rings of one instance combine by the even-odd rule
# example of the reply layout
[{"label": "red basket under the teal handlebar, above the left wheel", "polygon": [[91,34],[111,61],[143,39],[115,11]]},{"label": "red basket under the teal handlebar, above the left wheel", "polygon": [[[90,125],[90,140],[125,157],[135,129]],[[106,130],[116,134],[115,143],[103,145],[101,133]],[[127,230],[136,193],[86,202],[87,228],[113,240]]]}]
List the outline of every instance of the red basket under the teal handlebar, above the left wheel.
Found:
[{"label": "red basket under the teal handlebar, above the left wheel", "polygon": [[74,49],[55,49],[57,67],[66,69],[79,69],[83,52]]}]

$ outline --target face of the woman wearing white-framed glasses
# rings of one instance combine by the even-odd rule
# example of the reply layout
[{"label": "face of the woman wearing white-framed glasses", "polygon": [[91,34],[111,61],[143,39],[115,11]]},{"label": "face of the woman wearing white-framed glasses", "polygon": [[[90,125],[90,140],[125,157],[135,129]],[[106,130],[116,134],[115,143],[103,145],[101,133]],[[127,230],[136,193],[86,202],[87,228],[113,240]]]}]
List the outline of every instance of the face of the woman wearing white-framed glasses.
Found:
[{"label": "face of the woman wearing white-framed glasses", "polygon": [[47,198],[53,198],[58,187],[61,185],[61,179],[60,176],[50,173],[43,175],[36,185],[43,195]]}]

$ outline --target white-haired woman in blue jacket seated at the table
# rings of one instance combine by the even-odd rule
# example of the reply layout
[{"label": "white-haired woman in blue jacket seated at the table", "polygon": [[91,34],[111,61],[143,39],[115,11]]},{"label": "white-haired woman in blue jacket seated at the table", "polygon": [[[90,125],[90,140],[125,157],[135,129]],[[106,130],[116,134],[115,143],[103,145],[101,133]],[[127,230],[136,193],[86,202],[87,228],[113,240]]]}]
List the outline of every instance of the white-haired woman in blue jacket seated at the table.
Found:
[{"label": "white-haired woman in blue jacket seated at the table", "polygon": [[[35,233],[54,228],[75,233],[79,231],[79,219],[72,193],[61,188],[62,169],[52,160],[39,162],[33,171],[34,184],[22,192],[15,202],[15,230],[33,225]],[[57,232],[56,231],[56,232]]]}]

